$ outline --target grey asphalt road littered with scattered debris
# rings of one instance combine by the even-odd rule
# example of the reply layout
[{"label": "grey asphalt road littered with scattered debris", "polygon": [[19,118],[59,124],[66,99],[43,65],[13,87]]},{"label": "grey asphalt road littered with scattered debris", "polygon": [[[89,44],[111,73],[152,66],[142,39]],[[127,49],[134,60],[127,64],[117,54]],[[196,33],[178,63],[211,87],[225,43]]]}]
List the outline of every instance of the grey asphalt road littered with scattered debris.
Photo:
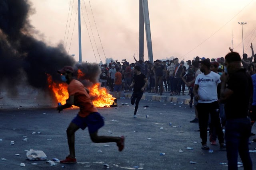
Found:
[{"label": "grey asphalt road littered with scattered debris", "polygon": [[[220,164],[227,163],[227,159],[226,151],[219,150],[218,141],[216,146],[208,142],[213,153],[201,149],[199,132],[194,131],[199,129],[198,124],[189,122],[194,118],[194,107],[190,109],[183,104],[142,100],[137,118],[133,118],[134,106],[129,99],[119,99],[118,107],[99,108],[105,117],[105,126],[98,134],[124,135],[126,141],[122,152],[118,152],[115,143],[92,143],[88,130],[79,129],[75,144],[77,164],[57,163],[50,166],[46,161],[26,160],[24,150],[29,149],[44,151],[47,160],[64,159],[68,155],[65,130],[78,112],[78,109],[66,109],[58,113],[53,106],[37,103],[32,106],[32,103],[22,107],[19,103],[10,105],[12,107],[0,103],[0,158],[6,159],[0,160],[1,170],[62,169],[62,166],[72,170],[96,170],[104,168],[104,164],[113,170],[136,169],[133,167],[140,164],[144,164],[145,170],[227,169],[227,166]],[[122,106],[122,103],[128,103],[128,106]],[[149,107],[144,109],[143,106]],[[255,126],[252,131],[256,132]],[[24,138],[28,140],[22,141]],[[10,145],[10,141],[14,141],[14,145]],[[250,150],[255,147],[256,143],[252,143]],[[255,166],[256,153],[250,155]],[[190,161],[196,164],[190,164]],[[241,162],[240,158],[238,161]],[[22,162],[25,167],[20,166]]]}]

